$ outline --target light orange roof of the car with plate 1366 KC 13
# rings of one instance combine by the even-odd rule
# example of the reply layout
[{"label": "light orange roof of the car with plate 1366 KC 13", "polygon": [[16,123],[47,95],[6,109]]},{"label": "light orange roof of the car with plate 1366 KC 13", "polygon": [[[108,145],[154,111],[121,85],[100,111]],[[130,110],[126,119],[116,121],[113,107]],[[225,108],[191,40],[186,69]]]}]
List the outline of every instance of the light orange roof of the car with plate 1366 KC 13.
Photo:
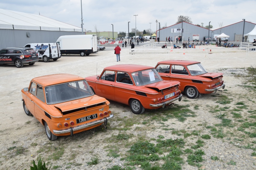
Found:
[{"label": "light orange roof of the car with plate 1366 KC 13", "polygon": [[61,83],[68,83],[73,81],[85,80],[83,77],[76,76],[73,74],[52,74],[52,75],[45,75],[33,78],[32,81],[37,82],[40,85],[49,86],[49,85],[57,85]]}]

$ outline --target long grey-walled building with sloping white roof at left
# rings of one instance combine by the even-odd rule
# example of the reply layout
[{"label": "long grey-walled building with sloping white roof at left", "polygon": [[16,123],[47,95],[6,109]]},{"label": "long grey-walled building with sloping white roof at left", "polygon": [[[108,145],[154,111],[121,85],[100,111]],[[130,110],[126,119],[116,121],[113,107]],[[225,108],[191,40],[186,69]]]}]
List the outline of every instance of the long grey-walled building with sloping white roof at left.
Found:
[{"label": "long grey-walled building with sloping white roof at left", "polygon": [[81,34],[82,28],[55,19],[0,9],[0,49],[24,47],[28,43],[52,43],[62,35]]}]

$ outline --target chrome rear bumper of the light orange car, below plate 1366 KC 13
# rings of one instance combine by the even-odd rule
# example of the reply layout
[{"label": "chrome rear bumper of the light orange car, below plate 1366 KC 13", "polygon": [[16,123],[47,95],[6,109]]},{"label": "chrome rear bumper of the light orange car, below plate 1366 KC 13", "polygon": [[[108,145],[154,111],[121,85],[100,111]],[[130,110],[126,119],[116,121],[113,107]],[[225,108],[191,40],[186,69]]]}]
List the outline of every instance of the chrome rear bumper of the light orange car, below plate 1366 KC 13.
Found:
[{"label": "chrome rear bumper of the light orange car, below plate 1366 KC 13", "polygon": [[105,125],[107,125],[108,119],[111,119],[113,117],[114,117],[114,115],[109,115],[108,117],[104,117],[104,118],[99,119],[97,121],[85,123],[85,124],[78,125],[78,126],[75,126],[75,127],[70,127],[69,129],[53,130],[53,133],[55,133],[55,134],[63,134],[63,133],[69,133],[69,132],[73,133],[73,131],[88,128],[88,127],[91,127],[91,126],[94,126],[94,125],[97,125],[97,124],[104,123]]}]

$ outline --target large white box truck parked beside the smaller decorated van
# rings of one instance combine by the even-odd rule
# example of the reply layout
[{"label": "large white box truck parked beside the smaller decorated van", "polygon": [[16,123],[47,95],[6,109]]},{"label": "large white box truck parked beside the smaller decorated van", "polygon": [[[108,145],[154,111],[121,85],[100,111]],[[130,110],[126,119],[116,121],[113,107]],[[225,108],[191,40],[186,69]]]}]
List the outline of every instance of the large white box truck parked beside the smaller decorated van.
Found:
[{"label": "large white box truck parked beside the smaller decorated van", "polygon": [[61,54],[90,55],[98,52],[97,35],[63,35],[56,41]]}]

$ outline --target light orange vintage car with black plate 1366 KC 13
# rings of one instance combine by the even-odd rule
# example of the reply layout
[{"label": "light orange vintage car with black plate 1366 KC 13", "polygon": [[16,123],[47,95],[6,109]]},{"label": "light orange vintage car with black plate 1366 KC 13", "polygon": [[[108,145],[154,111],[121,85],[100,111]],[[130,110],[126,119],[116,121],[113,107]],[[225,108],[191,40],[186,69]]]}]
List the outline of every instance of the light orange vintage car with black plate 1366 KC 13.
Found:
[{"label": "light orange vintage car with black plate 1366 KC 13", "polygon": [[25,113],[44,125],[50,140],[100,125],[106,128],[113,117],[109,101],[94,95],[84,78],[72,74],[33,78],[21,93]]}]

